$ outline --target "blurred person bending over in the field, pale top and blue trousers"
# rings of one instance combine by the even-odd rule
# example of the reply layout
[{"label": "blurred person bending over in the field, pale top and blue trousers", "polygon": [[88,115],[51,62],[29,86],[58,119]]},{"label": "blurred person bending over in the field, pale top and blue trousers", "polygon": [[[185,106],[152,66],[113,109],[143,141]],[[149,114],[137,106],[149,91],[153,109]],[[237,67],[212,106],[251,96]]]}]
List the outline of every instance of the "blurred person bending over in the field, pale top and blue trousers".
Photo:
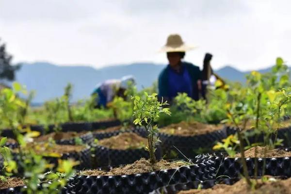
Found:
[{"label": "blurred person bending over in the field, pale top and blue trousers", "polygon": [[135,84],[133,76],[124,76],[120,80],[106,80],[103,83],[97,84],[92,95],[96,95],[96,108],[101,106],[108,107],[115,96],[125,97],[124,92],[128,89],[130,83]]}]

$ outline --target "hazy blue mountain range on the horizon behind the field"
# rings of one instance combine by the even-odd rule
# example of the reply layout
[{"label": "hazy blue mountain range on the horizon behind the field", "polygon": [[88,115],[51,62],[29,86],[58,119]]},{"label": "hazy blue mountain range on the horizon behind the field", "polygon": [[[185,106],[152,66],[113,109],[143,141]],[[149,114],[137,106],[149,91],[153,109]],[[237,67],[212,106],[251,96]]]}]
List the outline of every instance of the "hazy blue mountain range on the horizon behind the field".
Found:
[{"label": "hazy blue mountain range on the horizon behind the field", "polygon": [[[116,65],[100,69],[90,66],[59,66],[44,62],[22,64],[16,73],[16,81],[26,85],[28,90],[35,90],[34,103],[63,95],[64,87],[71,82],[73,99],[89,97],[97,83],[107,79],[119,79],[125,75],[133,75],[138,83],[138,88],[148,87],[157,80],[159,73],[165,65],[151,63],[135,63],[130,65]],[[265,72],[270,70],[262,69]],[[225,66],[215,71],[222,78],[229,81],[245,81],[245,74],[233,67]]]}]

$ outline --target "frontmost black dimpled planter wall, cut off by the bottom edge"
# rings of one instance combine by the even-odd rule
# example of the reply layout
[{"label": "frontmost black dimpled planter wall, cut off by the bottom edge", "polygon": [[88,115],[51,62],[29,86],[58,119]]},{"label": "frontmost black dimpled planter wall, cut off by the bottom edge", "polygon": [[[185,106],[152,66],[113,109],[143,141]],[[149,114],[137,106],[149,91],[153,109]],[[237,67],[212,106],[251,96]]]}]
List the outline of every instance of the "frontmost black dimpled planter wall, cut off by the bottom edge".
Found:
[{"label": "frontmost black dimpled planter wall, cut off by the bottom edge", "polygon": [[225,179],[211,179],[204,181],[191,181],[187,183],[178,183],[169,186],[163,186],[159,189],[150,192],[149,194],[178,194],[180,191],[188,191],[191,189],[209,189],[212,188],[216,184],[227,184],[233,185],[236,183],[239,178],[225,178]]}]

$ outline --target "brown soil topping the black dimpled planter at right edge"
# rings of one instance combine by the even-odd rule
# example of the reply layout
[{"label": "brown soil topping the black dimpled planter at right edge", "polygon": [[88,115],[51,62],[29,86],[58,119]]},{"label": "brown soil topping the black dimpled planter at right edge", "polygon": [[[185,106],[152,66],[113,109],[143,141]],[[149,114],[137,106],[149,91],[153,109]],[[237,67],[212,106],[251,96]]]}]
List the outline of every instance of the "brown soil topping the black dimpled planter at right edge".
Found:
[{"label": "brown soil topping the black dimpled planter at right edge", "polygon": [[[291,157],[291,152],[284,151],[281,149],[272,149],[270,147],[257,147],[257,157],[259,158],[282,158],[282,157]],[[255,158],[255,147],[251,147],[250,149],[244,151],[244,155],[246,158]],[[241,153],[235,155],[235,157],[241,157]]]}]

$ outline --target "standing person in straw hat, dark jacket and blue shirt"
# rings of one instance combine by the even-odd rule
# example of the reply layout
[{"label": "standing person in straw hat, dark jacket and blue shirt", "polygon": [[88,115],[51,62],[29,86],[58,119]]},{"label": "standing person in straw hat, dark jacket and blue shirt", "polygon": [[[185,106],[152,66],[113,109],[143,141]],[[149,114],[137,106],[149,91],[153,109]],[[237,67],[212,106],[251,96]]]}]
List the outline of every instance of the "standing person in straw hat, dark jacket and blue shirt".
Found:
[{"label": "standing person in straw hat, dark jacket and blue shirt", "polygon": [[159,76],[159,97],[171,102],[178,93],[186,93],[194,100],[199,99],[201,71],[198,66],[182,61],[185,52],[194,48],[186,45],[179,34],[168,36],[161,51],[167,53],[169,64]]}]

